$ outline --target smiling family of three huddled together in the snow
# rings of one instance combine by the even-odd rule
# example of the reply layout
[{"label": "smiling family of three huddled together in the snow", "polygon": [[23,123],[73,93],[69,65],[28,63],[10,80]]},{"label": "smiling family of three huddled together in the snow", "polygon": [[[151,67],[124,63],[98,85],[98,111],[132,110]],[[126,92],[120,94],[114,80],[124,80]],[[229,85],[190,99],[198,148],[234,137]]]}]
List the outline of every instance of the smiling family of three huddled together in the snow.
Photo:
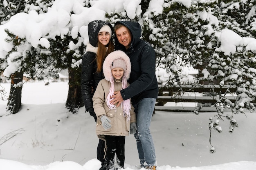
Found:
[{"label": "smiling family of three huddled together in the snow", "polygon": [[[115,45],[112,35],[115,35]],[[150,122],[158,95],[155,51],[137,22],[94,20],[82,59],[82,97],[96,122],[100,170],[124,168],[125,137],[136,139],[141,168],[155,170]],[[106,150],[105,150],[106,148]],[[114,167],[115,155],[118,167]]]}]

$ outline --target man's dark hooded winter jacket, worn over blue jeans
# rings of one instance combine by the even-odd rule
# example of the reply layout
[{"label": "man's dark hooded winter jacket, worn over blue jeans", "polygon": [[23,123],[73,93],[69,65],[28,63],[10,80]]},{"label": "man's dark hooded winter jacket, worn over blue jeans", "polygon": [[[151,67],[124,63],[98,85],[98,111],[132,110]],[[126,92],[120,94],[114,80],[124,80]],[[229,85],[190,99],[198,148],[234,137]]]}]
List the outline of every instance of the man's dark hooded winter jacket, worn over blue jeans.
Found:
[{"label": "man's dark hooded winter jacket, worn over blue jeans", "polygon": [[126,50],[115,36],[115,50],[124,51],[129,57],[132,65],[130,86],[121,90],[124,100],[131,98],[132,104],[137,104],[144,98],[157,98],[158,84],[155,75],[155,51],[146,41],[141,40],[141,27],[137,22],[118,21],[126,26],[131,34],[132,41],[130,47]]}]

